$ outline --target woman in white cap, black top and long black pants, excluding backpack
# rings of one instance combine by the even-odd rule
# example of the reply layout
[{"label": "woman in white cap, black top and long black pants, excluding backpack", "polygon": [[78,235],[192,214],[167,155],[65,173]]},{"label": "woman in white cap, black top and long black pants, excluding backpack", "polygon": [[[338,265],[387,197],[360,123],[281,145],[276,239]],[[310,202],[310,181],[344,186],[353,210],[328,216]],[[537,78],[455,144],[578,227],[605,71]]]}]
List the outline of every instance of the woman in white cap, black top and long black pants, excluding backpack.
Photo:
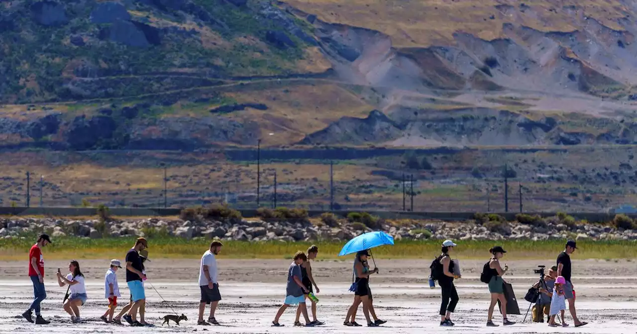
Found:
[{"label": "woman in white cap, black top and long black pants, excluding backpack", "polygon": [[440,305],[440,326],[454,326],[451,321],[451,314],[455,310],[458,303],[458,293],[455,291],[454,279],[460,278],[460,275],[454,274],[455,263],[451,260],[451,255],[455,244],[452,240],[445,240],[442,243],[442,254],[438,256],[438,262],[442,265],[438,284],[442,290],[442,303]]}]

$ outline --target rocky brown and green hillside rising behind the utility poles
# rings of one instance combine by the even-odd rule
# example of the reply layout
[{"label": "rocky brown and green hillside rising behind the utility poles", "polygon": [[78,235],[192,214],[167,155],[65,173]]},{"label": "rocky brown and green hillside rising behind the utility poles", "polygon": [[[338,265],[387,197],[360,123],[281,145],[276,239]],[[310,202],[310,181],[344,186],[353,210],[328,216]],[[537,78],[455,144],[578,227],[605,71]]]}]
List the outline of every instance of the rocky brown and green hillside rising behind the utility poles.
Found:
[{"label": "rocky brown and green hillside rising behind the utility poles", "polygon": [[1,1],[0,137],[54,150],[633,144],[636,15],[626,0]]}]

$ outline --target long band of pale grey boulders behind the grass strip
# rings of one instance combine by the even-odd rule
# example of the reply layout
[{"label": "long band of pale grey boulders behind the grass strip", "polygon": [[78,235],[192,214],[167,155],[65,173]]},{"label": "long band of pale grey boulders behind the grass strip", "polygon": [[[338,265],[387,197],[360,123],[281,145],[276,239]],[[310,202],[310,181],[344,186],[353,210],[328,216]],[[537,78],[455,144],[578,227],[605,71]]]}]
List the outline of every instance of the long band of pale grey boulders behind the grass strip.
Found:
[{"label": "long band of pale grey boulders behind the grass strip", "polygon": [[[280,240],[348,240],[363,230],[371,230],[361,223],[340,220],[326,225],[320,220],[275,221],[235,219],[227,221],[182,221],[161,218],[125,219],[108,222],[55,218],[5,218],[0,219],[0,237],[20,237],[27,232],[48,232],[52,237],[75,235],[99,239],[103,237],[127,237],[169,235],[187,239],[218,237],[224,240],[265,241]],[[543,226],[503,222],[496,227],[481,225],[475,221],[408,221],[399,224],[380,223],[381,230],[401,239],[454,239],[454,240],[637,240],[637,230],[624,230],[607,225],[575,223],[567,226],[550,221]]]}]

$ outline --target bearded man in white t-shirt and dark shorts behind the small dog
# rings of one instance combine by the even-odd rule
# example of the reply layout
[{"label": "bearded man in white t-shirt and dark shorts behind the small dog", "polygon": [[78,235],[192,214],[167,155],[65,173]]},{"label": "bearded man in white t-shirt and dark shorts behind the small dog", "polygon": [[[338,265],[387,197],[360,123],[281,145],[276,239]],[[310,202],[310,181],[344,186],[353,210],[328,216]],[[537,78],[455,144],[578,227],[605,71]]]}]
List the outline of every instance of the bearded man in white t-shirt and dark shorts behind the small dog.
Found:
[{"label": "bearded man in white t-shirt and dark shorts behind the small dog", "polygon": [[[217,319],[215,319],[215,310],[217,309],[217,303],[221,300],[221,294],[219,293],[219,284],[217,282],[217,259],[215,255],[219,254],[222,246],[224,246],[224,244],[218,240],[214,240],[210,244],[210,249],[206,251],[206,253],[203,253],[201,257],[201,267],[199,268],[201,302],[199,303],[199,320],[197,324],[204,326],[219,324]],[[208,322],[203,319],[207,304],[210,304],[210,317],[208,317]]]}]

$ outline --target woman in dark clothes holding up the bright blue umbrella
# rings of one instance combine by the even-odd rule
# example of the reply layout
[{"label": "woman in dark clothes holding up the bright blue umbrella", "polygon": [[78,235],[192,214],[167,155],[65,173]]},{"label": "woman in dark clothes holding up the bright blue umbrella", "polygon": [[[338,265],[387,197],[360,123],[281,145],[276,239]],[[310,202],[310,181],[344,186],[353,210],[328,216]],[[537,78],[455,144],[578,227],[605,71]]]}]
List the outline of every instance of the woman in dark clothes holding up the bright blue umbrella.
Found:
[{"label": "woman in dark clothes holding up the bright blue umbrella", "polygon": [[354,282],[356,284],[356,289],[354,290],[354,303],[352,303],[352,306],[350,306],[350,309],[347,311],[347,316],[343,323],[345,326],[361,326],[354,321],[350,322],[350,317],[354,317],[354,314],[359,305],[361,305],[361,302],[362,312],[365,314],[367,325],[369,327],[378,326],[377,321],[371,321],[369,318],[369,309],[371,307],[371,300],[369,299],[369,275],[376,274],[378,272],[378,268],[374,268],[374,270],[371,271],[369,270],[369,267],[366,266],[368,256],[369,252],[367,250],[359,251],[356,254],[356,260],[354,260],[354,275],[356,277]]}]

